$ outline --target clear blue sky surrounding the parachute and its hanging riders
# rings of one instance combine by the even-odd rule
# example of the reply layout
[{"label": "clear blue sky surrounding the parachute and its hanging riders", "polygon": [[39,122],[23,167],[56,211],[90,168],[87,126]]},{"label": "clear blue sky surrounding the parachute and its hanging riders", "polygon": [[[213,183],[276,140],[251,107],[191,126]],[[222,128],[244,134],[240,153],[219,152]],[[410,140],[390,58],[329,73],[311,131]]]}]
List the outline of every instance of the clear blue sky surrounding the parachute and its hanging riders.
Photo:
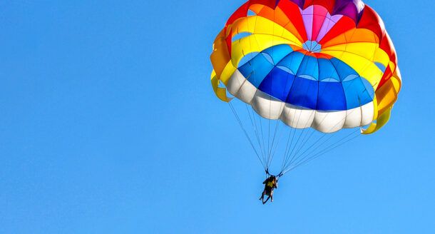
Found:
[{"label": "clear blue sky surrounding the parachute and its hanging riders", "polygon": [[261,205],[209,78],[244,0],[1,1],[0,233],[435,233],[434,4],[364,2],[399,56],[391,121]]}]

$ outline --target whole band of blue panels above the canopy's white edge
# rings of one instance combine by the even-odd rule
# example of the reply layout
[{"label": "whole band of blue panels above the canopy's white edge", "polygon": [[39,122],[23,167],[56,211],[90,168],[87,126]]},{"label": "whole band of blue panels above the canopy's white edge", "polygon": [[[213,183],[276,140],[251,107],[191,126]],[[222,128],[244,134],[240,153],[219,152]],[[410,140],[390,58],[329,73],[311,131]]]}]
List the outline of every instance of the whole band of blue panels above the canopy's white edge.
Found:
[{"label": "whole band of blue panels above the canopy's white edge", "polygon": [[260,91],[313,110],[349,110],[374,98],[372,85],[343,61],[317,59],[288,45],[265,49],[238,70]]}]

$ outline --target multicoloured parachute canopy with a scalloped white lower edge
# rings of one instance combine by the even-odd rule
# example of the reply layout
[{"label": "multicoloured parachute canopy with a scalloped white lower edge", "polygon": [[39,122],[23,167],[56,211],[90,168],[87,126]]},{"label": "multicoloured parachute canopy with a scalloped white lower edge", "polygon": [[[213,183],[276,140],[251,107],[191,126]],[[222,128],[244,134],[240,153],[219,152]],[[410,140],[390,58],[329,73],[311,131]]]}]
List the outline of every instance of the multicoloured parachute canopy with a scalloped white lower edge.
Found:
[{"label": "multicoloured parachute canopy with a scalloped white lower edge", "polygon": [[[389,121],[401,88],[396,51],[359,0],[250,0],[215,39],[213,89],[269,120],[334,133]],[[220,83],[226,88],[223,88]]]}]

